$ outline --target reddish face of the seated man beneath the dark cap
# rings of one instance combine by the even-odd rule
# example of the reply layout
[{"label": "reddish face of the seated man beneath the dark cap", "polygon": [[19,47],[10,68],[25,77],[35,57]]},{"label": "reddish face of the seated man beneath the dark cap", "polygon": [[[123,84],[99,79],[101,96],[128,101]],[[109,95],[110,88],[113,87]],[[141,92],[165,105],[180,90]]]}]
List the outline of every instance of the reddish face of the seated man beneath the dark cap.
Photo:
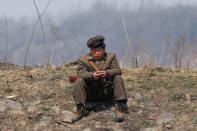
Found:
[{"label": "reddish face of the seated man beneath the dark cap", "polygon": [[96,47],[91,49],[91,54],[96,60],[100,60],[103,57],[104,53],[105,50],[102,47]]}]

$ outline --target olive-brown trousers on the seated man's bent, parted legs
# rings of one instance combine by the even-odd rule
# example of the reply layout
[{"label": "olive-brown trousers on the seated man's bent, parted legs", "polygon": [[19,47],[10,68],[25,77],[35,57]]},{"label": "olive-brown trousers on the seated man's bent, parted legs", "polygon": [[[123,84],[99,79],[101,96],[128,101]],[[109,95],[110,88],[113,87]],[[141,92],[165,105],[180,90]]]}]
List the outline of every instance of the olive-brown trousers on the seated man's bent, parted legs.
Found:
[{"label": "olive-brown trousers on the seated man's bent, parted legs", "polygon": [[76,104],[86,104],[87,101],[127,100],[124,81],[116,75],[111,85],[100,87],[95,80],[85,81],[78,78],[73,84],[73,97]]}]

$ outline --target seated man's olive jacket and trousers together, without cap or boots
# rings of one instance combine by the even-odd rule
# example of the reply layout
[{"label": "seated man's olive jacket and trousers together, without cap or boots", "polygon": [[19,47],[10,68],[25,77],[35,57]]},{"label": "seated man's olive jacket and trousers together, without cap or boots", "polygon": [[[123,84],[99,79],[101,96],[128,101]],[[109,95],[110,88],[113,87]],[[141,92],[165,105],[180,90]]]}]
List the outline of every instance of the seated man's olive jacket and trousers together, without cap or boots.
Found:
[{"label": "seated man's olive jacket and trousers together, without cap or boots", "polygon": [[[94,80],[93,72],[94,68],[90,65],[89,61],[92,61],[98,69],[105,70],[107,72],[106,78],[108,85],[102,85],[102,80]],[[95,60],[91,54],[81,56],[78,59],[77,74],[79,78],[73,85],[73,97],[76,104],[85,104],[87,101],[99,101],[99,100],[126,100],[126,92],[124,87],[124,81],[120,76],[122,74],[118,65],[116,55],[112,53],[105,53],[101,60]]]}]

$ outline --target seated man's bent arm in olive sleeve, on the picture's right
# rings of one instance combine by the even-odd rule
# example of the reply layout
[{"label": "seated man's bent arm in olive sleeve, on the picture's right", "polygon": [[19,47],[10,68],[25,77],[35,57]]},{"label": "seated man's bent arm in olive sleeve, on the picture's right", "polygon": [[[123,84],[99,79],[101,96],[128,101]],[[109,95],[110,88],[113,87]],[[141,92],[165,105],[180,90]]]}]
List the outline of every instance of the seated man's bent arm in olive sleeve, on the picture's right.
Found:
[{"label": "seated man's bent arm in olive sleeve, on the picture's right", "polygon": [[106,72],[107,72],[107,75],[111,77],[122,74],[122,71],[118,65],[118,60],[116,58],[116,55],[114,55],[114,57],[112,58],[110,68],[107,69]]}]

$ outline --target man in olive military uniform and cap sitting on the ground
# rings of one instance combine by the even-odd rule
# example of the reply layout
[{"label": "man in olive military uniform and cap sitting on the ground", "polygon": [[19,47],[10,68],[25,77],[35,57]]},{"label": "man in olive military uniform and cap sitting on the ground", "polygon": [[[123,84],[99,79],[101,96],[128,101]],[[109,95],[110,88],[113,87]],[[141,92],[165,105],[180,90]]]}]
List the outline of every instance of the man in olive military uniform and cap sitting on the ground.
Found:
[{"label": "man in olive military uniform and cap sitting on the ground", "polygon": [[[115,100],[115,121],[124,120],[123,112],[127,111],[127,96],[124,81],[121,77],[122,71],[118,65],[116,55],[105,51],[103,36],[95,36],[88,40],[87,46],[91,53],[78,58],[78,79],[73,84],[73,97],[77,105],[72,122],[86,116],[85,104],[88,101],[111,101]],[[101,50],[101,58],[96,57],[96,49]],[[104,54],[103,54],[104,53]],[[95,55],[94,57],[92,55]],[[97,58],[97,59],[96,59]],[[98,80],[96,73],[105,71],[104,76]],[[96,72],[96,73],[95,73]],[[93,78],[93,75],[95,78]]]}]

